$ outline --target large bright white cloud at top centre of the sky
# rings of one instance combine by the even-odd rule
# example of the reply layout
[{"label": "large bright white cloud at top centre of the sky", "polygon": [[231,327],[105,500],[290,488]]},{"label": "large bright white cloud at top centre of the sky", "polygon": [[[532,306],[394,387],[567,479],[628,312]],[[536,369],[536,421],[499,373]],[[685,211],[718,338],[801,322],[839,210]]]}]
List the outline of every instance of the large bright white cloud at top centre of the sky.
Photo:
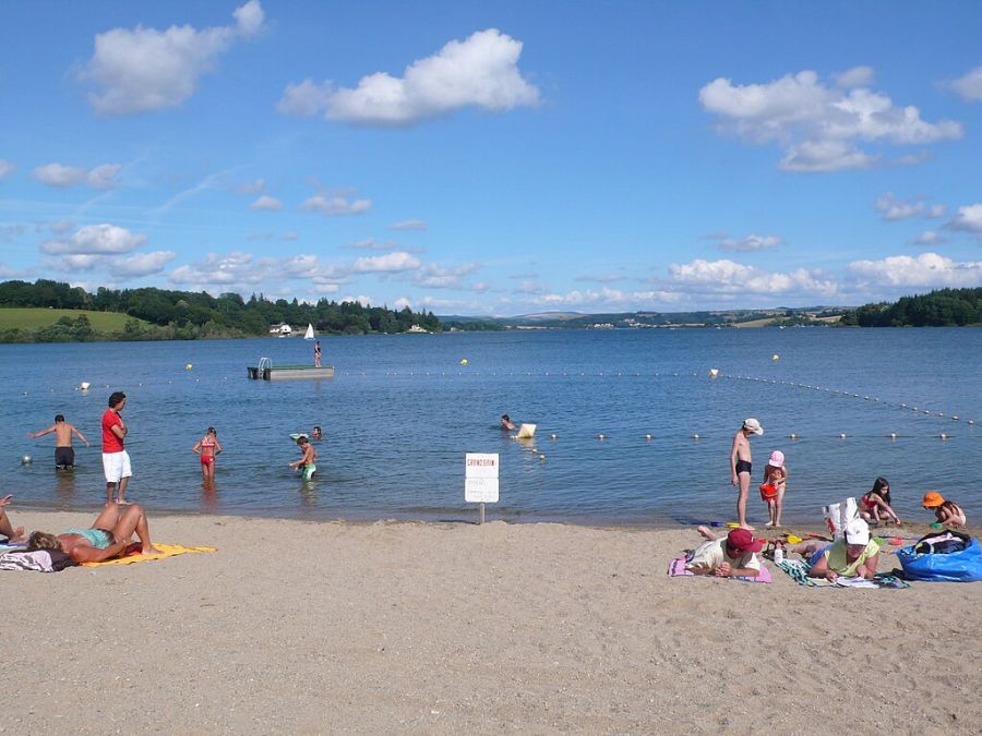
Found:
[{"label": "large bright white cloud at top centre of the sky", "polygon": [[412,125],[466,107],[502,111],[539,101],[538,88],[522,76],[522,41],[496,28],[452,40],[431,57],[409,64],[403,76],[375,72],[355,88],[304,80],[290,84],[280,112],[323,113],[357,125]]}]

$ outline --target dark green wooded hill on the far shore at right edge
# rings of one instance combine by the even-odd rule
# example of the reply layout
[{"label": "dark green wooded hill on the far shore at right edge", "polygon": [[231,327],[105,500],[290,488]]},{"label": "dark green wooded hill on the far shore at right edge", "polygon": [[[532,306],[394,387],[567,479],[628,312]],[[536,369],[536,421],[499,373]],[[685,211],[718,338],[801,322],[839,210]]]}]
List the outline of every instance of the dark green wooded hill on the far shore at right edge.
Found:
[{"label": "dark green wooded hill on the far shore at right edge", "polygon": [[846,312],[842,325],[859,327],[946,327],[982,325],[982,288],[938,289],[902,297],[893,304],[864,304]]}]

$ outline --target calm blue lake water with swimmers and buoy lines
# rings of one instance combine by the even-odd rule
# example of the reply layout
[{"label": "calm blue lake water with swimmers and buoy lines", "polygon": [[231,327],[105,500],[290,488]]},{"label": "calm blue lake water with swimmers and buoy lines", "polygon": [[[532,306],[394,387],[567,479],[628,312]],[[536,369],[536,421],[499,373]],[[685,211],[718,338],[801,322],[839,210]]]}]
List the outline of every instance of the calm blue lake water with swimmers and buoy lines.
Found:
[{"label": "calm blue lake water with swimmers and buoy lines", "polygon": [[[929,488],[982,512],[979,329],[517,331],[322,346],[336,378],[277,383],[247,379],[246,366],[263,355],[310,362],[311,342],[0,346],[7,492],[25,506],[95,509],[105,497],[99,417],[123,390],[129,495],[153,511],[474,519],[464,455],[487,451],[502,466],[489,518],[729,520],[730,443],[757,417],[766,434],[752,441],[752,521],[766,520],[756,484],[777,448],[790,472],[788,520],[819,520],[823,503],[867,491],[878,474],[901,516],[929,520],[918,505]],[[88,391],[76,388],[83,381]],[[58,412],[94,445],[76,447],[73,473],[55,472],[53,437],[26,437]],[[503,437],[503,412],[536,422],[535,443]],[[213,491],[191,453],[209,424],[225,447]],[[287,468],[298,457],[288,435],[314,424],[325,432],[319,476],[303,484]],[[34,462],[23,466],[27,454]]]}]

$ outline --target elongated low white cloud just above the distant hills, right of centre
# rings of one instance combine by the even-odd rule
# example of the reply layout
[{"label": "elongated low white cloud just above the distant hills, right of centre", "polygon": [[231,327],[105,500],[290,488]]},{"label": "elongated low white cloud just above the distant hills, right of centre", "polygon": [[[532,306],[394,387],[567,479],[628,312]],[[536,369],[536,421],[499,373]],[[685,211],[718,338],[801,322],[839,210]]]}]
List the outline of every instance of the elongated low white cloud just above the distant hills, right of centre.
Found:
[{"label": "elongated low white cloud just above the distant hills, right of centre", "polygon": [[797,268],[789,273],[767,272],[730,260],[704,261],[669,266],[671,285],[683,291],[705,294],[815,294],[831,297],[836,280],[818,269]]}]

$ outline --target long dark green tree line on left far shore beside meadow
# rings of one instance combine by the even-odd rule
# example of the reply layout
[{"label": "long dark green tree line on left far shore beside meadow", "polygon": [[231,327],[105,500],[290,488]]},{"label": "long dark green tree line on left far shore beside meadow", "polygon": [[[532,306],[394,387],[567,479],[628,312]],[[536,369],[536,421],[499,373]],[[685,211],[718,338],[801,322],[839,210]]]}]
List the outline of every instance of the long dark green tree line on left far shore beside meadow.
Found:
[{"label": "long dark green tree line on left far shore beside meadow", "polygon": [[[271,325],[312,324],[320,334],[366,335],[369,333],[404,333],[412,325],[429,331],[441,331],[442,325],[432,312],[414,312],[408,306],[362,306],[358,302],[321,299],[316,304],[297,299],[271,301],[262,293],[248,300],[228,292],[212,297],[207,292],[169,291],[154,287],[107,289],[89,293],[81,287],[38,279],[0,283],[0,306],[39,306],[67,310],[118,312],[128,321],[122,333],[94,334],[87,325],[62,318],[56,328],[35,330],[41,339],[196,339],[216,337],[254,337],[267,335]],[[137,322],[143,319],[149,327]],[[10,330],[8,330],[10,331]],[[9,336],[8,336],[9,337]],[[22,336],[22,339],[24,336]]]}]

